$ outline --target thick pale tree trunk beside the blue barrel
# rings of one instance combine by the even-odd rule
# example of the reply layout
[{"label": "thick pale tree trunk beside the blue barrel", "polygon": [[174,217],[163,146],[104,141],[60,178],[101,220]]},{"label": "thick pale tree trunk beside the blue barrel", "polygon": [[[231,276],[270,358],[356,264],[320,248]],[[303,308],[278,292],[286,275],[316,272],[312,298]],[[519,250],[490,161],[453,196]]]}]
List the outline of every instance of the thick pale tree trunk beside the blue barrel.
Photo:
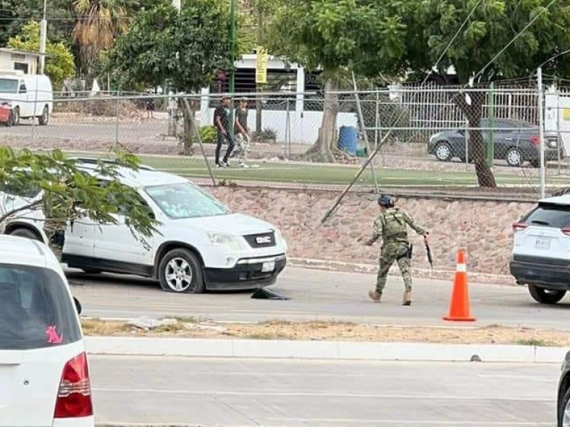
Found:
[{"label": "thick pale tree trunk beside the blue barrel", "polygon": [[338,90],[338,82],[333,78],[328,78],[325,83],[325,99],[323,107],[323,120],[321,129],[313,147],[306,152],[306,157],[315,162],[335,162],[334,152],[336,148],[336,120],[340,105],[338,94],[331,93]]}]

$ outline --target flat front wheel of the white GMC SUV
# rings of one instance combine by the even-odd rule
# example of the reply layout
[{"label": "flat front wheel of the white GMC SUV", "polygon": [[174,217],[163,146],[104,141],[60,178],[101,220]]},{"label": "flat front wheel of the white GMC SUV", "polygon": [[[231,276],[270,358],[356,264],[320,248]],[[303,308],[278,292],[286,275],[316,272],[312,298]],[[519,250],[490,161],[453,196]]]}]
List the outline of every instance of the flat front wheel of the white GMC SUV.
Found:
[{"label": "flat front wheel of the white GMC SUV", "polygon": [[166,292],[203,293],[206,290],[202,263],[187,249],[173,249],[158,264],[160,288]]}]

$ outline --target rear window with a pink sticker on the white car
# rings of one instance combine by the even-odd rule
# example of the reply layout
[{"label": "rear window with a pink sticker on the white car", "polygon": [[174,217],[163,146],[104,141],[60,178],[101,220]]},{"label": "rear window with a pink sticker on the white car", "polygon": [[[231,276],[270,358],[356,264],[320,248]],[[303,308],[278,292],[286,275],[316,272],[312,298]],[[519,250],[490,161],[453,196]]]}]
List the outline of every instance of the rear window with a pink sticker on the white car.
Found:
[{"label": "rear window with a pink sticker on the white car", "polygon": [[81,339],[66,284],[53,270],[0,263],[0,350],[28,350]]}]

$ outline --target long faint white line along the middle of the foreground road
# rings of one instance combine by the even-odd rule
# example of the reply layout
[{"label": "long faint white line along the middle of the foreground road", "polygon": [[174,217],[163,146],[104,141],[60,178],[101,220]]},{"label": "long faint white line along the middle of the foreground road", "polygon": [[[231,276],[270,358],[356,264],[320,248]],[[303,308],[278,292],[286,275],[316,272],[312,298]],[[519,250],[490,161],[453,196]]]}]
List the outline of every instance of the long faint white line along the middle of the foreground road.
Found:
[{"label": "long faint white line along the middle of the foreground road", "polygon": [[266,391],[202,391],[184,389],[115,389],[93,387],[100,393],[142,393],[142,394],[189,394],[202,396],[266,396],[266,397],[331,397],[346,399],[422,399],[422,400],[454,400],[454,401],[533,401],[548,402],[553,399],[537,397],[477,397],[450,395],[420,395],[420,394],[366,394],[366,393],[299,393],[299,392],[266,392]]}]

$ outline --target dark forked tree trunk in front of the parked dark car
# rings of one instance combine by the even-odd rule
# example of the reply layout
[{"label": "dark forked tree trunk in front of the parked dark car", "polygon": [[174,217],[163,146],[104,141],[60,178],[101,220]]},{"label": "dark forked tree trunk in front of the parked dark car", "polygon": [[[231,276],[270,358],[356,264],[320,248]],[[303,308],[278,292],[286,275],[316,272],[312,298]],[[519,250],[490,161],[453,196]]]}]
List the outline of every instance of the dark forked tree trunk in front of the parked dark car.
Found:
[{"label": "dark forked tree trunk in front of the parked dark car", "polygon": [[[462,110],[470,128],[481,127],[481,116],[483,112],[485,94],[483,92],[470,93],[471,103],[465,101],[462,94],[455,95],[457,105]],[[497,188],[497,181],[494,179],[494,174],[487,164],[487,147],[479,129],[469,131],[469,153],[470,157],[475,163],[475,173],[477,174],[477,183],[480,187]]]}]

